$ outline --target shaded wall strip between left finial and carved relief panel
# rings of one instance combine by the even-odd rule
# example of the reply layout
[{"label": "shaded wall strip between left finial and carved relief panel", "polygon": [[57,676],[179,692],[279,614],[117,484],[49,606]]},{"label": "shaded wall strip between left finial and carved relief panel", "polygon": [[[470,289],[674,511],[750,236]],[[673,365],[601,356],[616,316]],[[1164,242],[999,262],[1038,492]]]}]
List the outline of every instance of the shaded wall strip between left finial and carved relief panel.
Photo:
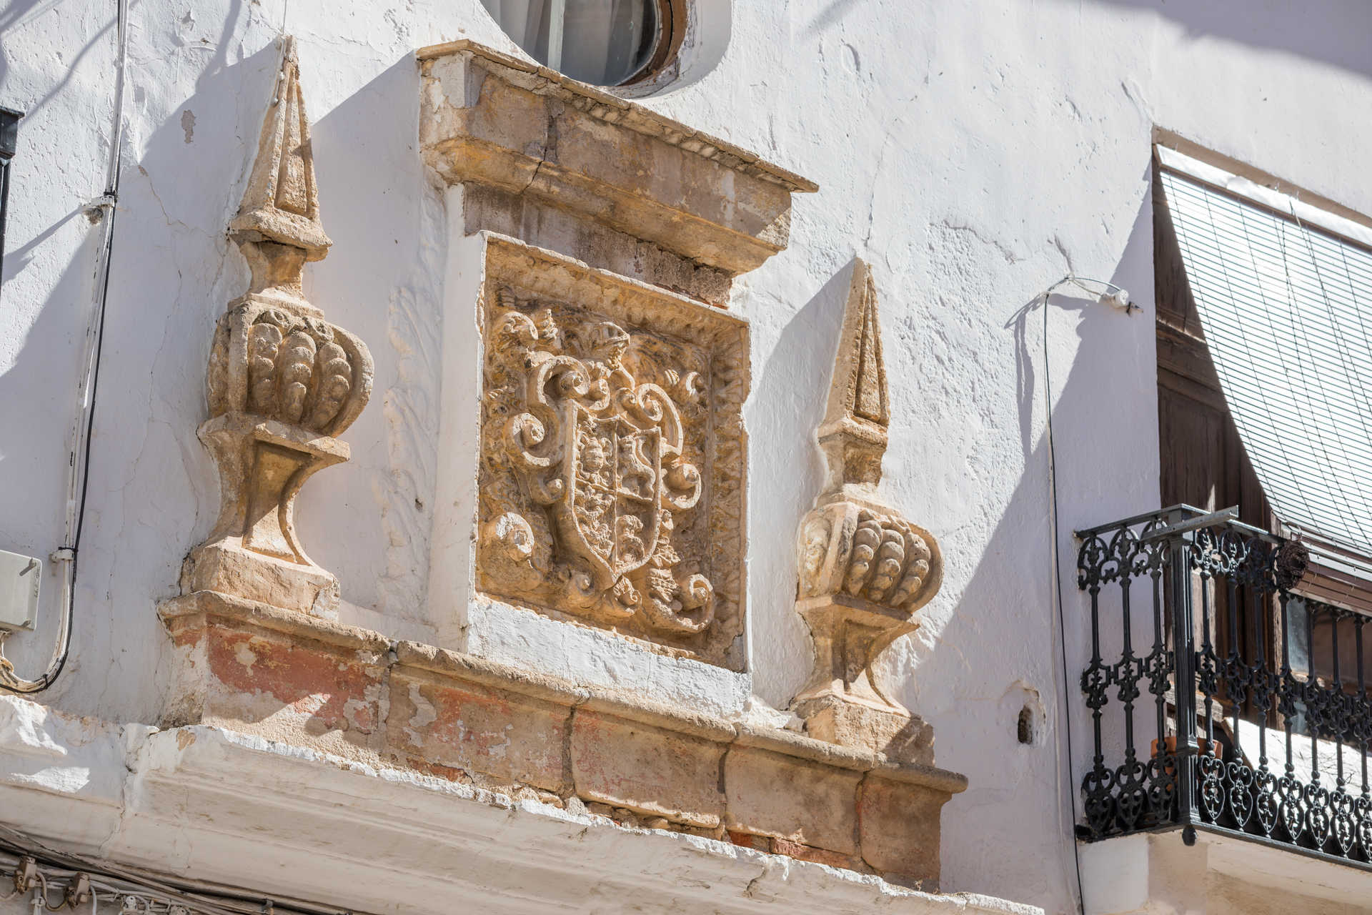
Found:
[{"label": "shaded wall strip between left finial and carved relief panel", "polygon": [[[331,62],[316,54],[302,49],[311,112],[331,75]],[[343,601],[364,608],[355,617],[344,606],[344,621],[434,642],[425,594],[447,225],[417,148],[420,92],[418,66],[405,54],[311,118],[320,213],[333,247],[307,266],[306,298],[366,343],[376,376],[370,402],[343,435],[351,460],[305,486],[296,527],[310,556],[339,576]],[[339,530],[350,536],[335,536]]]}]

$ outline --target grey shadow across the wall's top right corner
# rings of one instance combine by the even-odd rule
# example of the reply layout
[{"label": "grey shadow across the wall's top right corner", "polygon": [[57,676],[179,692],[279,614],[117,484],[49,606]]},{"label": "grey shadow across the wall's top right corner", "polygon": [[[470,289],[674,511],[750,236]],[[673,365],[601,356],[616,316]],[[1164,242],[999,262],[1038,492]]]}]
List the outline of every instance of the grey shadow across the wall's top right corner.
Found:
[{"label": "grey shadow across the wall's top right corner", "polygon": [[[1284,51],[1350,73],[1372,75],[1372,5],[1365,0],[1096,0],[1104,5],[1152,10],[1187,30],[1253,48]],[[1361,26],[1358,25],[1361,22]]]}]

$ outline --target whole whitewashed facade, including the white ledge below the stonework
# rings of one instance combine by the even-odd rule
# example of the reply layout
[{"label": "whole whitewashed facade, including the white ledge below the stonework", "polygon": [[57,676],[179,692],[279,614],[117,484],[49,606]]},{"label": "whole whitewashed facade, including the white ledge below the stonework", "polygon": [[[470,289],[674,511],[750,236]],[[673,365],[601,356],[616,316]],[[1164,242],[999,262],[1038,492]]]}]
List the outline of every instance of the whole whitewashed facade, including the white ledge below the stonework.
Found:
[{"label": "whole whitewashed facade, including the white ledge below the stonework", "polygon": [[[416,52],[469,38],[520,55],[479,0],[141,0],[125,23],[119,111],[115,3],[0,8],[0,104],[25,111],[0,287],[3,550],[63,546],[100,287],[103,222],[88,207],[122,125],[71,656],[45,693],[0,697],[0,822],[318,911],[1070,912],[1078,868],[1093,912],[1364,911],[1372,877],[1290,851],[1185,848],[1176,834],[1077,846],[1089,645],[1072,531],[1159,506],[1158,132],[1372,213],[1372,11],[691,0],[689,14],[678,64],[626,95],[819,187],[793,196],[789,246],[742,273],[727,302],[752,347],[741,669],[475,612],[450,582],[472,532],[440,483],[457,447],[445,361],[453,322],[471,321],[461,265],[473,243],[460,189],[421,159]],[[871,265],[892,405],[881,494],[938,539],[945,562],[923,626],[879,664],[932,724],[937,764],[967,776],[943,809],[941,894],[261,735],[156,731],[180,723],[156,605],[178,594],[220,498],[196,427],[214,322],[248,283],[226,229],[287,34],[333,241],[305,268],[305,294],[375,359],[370,403],[342,433],[351,460],[296,503],[302,542],[339,579],[342,624],[785,726],[811,671],[794,595],[796,531],[825,479],[815,428],[853,259]],[[1067,273],[1124,287],[1142,310],[1055,296],[1044,328],[1040,295]],[[60,613],[59,579],[44,575],[37,631],[4,646],[23,672],[41,669]]]}]

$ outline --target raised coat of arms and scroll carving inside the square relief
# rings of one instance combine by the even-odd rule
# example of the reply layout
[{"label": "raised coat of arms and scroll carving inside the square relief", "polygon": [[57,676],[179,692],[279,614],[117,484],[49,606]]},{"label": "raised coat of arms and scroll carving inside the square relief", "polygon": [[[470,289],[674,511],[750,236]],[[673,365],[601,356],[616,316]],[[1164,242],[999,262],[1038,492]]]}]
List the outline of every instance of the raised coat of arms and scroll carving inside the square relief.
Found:
[{"label": "raised coat of arms and scroll carving inside the square relief", "polygon": [[487,340],[486,575],[506,591],[552,587],[553,604],[602,623],[701,632],[715,587],[675,536],[702,491],[682,416],[702,409],[700,372],[638,380],[619,324],[563,328],[550,307],[501,299]]}]

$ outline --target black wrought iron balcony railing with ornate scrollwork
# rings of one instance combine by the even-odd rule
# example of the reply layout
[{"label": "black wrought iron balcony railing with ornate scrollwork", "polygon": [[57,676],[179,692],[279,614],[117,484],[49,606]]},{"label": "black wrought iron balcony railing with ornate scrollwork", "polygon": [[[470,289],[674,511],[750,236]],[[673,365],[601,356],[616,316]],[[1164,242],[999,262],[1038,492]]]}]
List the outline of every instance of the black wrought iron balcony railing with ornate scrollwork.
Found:
[{"label": "black wrought iron balcony railing with ornate scrollwork", "polygon": [[1372,867],[1372,617],[1301,597],[1305,547],[1235,516],[1077,532],[1095,748],[1078,835],[1202,829]]}]

